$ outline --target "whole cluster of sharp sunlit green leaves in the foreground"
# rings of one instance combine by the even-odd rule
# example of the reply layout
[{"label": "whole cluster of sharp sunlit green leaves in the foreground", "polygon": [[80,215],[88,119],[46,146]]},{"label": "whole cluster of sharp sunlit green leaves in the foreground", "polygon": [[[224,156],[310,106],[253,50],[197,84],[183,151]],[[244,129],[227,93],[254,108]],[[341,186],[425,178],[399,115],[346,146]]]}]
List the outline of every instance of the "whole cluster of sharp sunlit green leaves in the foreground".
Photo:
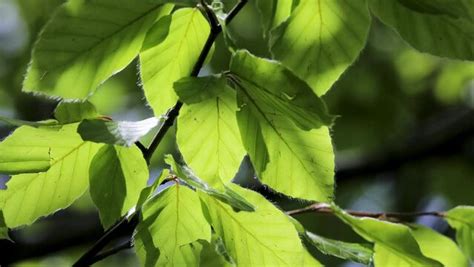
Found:
[{"label": "whole cluster of sharp sunlit green leaves in the foreground", "polygon": [[[467,266],[474,260],[472,207],[442,214],[457,230],[458,248],[426,227],[357,218],[333,204],[334,117],[321,96],[365,46],[372,15],[422,52],[474,60],[469,1],[259,0],[271,59],[235,47],[220,1],[215,13],[192,0],[68,1],[40,34],[23,85],[63,100],[55,119],[2,119],[19,128],[0,143],[0,172],[12,175],[0,191],[0,236],[68,207],[89,189],[106,228],[140,214],[133,238],[147,266],[320,265],[302,239],[364,264]],[[196,77],[196,62],[211,56],[205,48],[216,22],[231,63]],[[137,57],[155,117],[119,122],[98,114],[87,98]],[[166,156],[169,168],[147,184],[148,150],[138,141],[174,119],[173,107],[180,109],[182,158]],[[262,183],[331,203],[369,243],[310,233],[233,184],[245,155]]]}]

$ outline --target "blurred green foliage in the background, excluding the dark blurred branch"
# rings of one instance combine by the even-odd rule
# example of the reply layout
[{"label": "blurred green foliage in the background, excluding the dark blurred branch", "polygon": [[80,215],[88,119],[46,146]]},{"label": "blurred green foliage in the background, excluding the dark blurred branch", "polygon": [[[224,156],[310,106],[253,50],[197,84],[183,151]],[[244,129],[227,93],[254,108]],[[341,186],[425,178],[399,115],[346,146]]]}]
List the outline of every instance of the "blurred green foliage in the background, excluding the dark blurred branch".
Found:
[{"label": "blurred green foliage in the background, excluding the dark blurred branch", "polygon": [[[51,118],[56,102],[21,93],[21,83],[39,30],[62,2],[0,2],[0,115],[25,120]],[[268,47],[263,45],[263,30],[255,26],[259,23],[258,11],[254,1],[250,2],[229,31],[238,47],[268,56]],[[208,71],[221,72],[227,68],[230,53],[222,45],[224,41],[222,37],[218,39]],[[397,140],[416,134],[417,125],[433,116],[453,108],[474,107],[474,64],[419,53],[374,19],[366,48],[324,99],[332,114],[340,116],[332,129],[337,159],[346,155],[357,158],[373,151],[383,152]],[[152,115],[140,88],[135,63],[104,83],[90,100],[100,113],[114,119],[138,120]],[[5,126],[0,125],[3,135],[11,130],[2,127]],[[152,160],[156,167],[155,175],[164,164],[160,155],[175,152],[174,131],[168,132],[155,153]],[[153,134],[145,138],[145,144]],[[345,208],[399,211],[426,206],[442,210],[459,204],[474,205],[471,192],[474,188],[473,155],[471,146],[454,156],[438,156],[408,164],[393,173],[359,177],[367,179],[338,184],[337,202]],[[443,201],[432,201],[439,198]],[[281,197],[273,201],[285,209],[305,204],[289,202]],[[89,197],[83,197],[75,207],[78,212],[90,210]],[[306,214],[297,219],[316,234],[348,242],[361,241],[334,217]],[[31,230],[37,231],[31,232],[31,238],[41,233],[40,227]],[[83,248],[18,266],[70,265],[79,256],[79,251]],[[341,260],[320,254],[318,258],[330,266],[343,264]],[[125,252],[98,266],[136,264],[135,256]]]}]

